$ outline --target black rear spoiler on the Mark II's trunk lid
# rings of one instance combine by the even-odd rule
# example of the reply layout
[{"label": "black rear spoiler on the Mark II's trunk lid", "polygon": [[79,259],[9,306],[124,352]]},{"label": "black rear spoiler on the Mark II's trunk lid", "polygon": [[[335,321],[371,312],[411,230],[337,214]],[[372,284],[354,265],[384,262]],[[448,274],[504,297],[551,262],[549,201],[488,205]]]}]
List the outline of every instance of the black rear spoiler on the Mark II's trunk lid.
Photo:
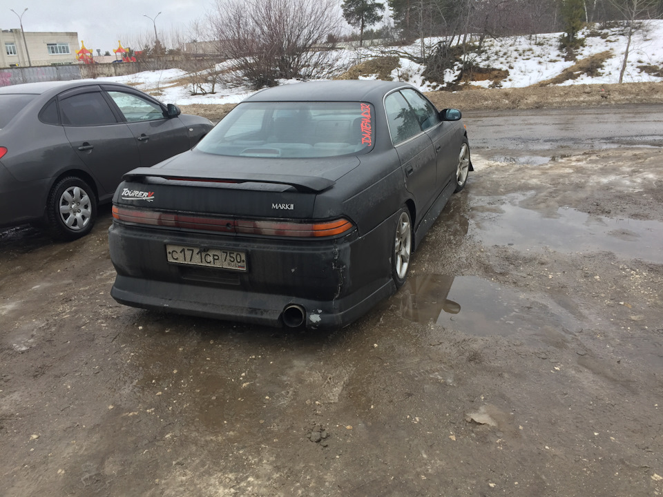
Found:
[{"label": "black rear spoiler on the Mark II's trunk lid", "polygon": [[185,169],[135,168],[122,179],[132,181],[142,177],[161,177],[179,181],[209,181],[233,183],[269,183],[294,186],[303,193],[320,193],[332,188],[336,182],[332,179],[316,176],[266,175],[256,173],[223,173],[222,175]]}]

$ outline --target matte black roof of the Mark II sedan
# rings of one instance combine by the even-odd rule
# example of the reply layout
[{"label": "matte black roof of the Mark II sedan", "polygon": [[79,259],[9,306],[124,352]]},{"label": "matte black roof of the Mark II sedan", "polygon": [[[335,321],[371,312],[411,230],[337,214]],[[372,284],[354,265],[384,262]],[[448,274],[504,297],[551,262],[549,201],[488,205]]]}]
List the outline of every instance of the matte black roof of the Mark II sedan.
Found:
[{"label": "matte black roof of the Mark II sedan", "polygon": [[276,86],[259,91],[245,101],[382,101],[396,88],[409,87],[402,81],[356,80],[311,81]]}]

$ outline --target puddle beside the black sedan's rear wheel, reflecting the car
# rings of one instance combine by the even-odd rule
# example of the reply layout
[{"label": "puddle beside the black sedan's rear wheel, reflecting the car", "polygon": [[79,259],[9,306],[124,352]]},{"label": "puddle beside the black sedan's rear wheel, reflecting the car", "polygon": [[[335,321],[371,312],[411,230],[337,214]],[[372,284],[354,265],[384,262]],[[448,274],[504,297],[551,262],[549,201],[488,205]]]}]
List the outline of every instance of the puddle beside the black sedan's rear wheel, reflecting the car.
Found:
[{"label": "puddle beside the black sedan's rear wheel, reflecting the car", "polygon": [[[566,344],[564,330],[582,328],[555,302],[537,300],[474,276],[410,277],[398,296],[403,317],[454,327],[470,335],[517,335],[524,342],[531,338],[561,348]],[[551,330],[557,330],[559,336],[551,337]]]}]

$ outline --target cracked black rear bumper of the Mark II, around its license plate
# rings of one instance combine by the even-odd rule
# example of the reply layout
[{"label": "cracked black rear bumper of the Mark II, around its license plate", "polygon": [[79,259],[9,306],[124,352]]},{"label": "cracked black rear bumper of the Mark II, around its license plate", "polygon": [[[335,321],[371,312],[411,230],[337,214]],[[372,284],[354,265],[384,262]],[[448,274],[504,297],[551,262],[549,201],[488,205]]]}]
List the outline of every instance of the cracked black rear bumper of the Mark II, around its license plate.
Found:
[{"label": "cracked black rear bumper of the Mark II, around its license plate", "polygon": [[[396,291],[390,259],[393,228],[364,237],[256,240],[171,232],[114,223],[108,231],[117,271],[111,296],[129,306],[281,327],[287,306],[305,310],[311,329],[344,327]],[[244,251],[248,271],[171,264],[166,244]]]}]

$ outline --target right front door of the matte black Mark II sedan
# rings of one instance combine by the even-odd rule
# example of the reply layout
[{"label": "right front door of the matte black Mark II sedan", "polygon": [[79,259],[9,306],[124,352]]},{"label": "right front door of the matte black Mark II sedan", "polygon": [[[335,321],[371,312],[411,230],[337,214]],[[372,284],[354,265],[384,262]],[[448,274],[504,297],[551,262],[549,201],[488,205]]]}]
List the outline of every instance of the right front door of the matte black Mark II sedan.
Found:
[{"label": "right front door of the matte black Mark II sedan", "polygon": [[418,91],[406,89],[401,90],[401,93],[412,106],[421,128],[425,130],[433,144],[437,164],[436,185],[441,191],[456,175],[459,147],[454,146],[454,141],[457,139],[453,131],[457,126],[455,123],[442,121],[435,106]]}]

